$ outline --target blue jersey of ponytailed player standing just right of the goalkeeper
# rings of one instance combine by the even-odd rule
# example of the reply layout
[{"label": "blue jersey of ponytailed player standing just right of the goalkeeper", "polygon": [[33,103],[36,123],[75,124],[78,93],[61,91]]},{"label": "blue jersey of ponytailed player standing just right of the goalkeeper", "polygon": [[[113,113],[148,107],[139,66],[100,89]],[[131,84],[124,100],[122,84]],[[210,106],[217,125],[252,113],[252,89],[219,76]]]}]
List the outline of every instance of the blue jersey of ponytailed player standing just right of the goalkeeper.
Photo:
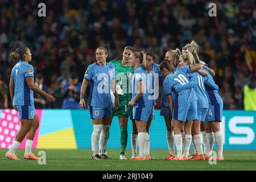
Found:
[{"label": "blue jersey of ponytailed player standing just right of the goalkeeper", "polygon": [[[154,72],[154,71],[153,71]],[[136,96],[139,90],[139,82],[144,81],[146,90],[143,96],[135,102],[134,107],[152,107],[154,105],[154,73],[147,72],[142,66],[134,71],[132,79],[132,94],[131,99]]]}]

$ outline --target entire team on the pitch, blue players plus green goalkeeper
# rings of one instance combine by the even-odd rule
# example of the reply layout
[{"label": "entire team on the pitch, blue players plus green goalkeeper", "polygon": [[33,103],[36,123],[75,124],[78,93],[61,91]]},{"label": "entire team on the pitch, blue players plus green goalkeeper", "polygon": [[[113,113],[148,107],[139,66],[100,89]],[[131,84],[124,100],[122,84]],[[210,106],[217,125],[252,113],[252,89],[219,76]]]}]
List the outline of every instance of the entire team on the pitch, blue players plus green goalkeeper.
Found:
[{"label": "entire team on the pitch, blue players plus green goalkeeper", "polygon": [[[160,115],[166,123],[169,150],[165,159],[211,159],[216,142],[218,155],[214,158],[224,160],[224,138],[220,131],[223,102],[213,80],[214,71],[199,59],[198,44],[192,41],[183,47],[182,52],[178,48],[167,51],[160,65],[154,63],[154,53],[134,52],[131,46],[123,50],[122,60],[108,63],[107,57],[108,46],[98,47],[96,63],[88,66],[80,90],[80,106],[84,109],[86,87],[90,82],[87,105],[93,123],[91,159],[110,159],[106,144],[114,116],[118,117],[121,131],[119,159],[127,159],[129,118],[133,125],[131,160],[154,159],[150,157],[150,126],[154,119],[159,83],[162,82]],[[38,160],[31,151],[39,125],[33,91],[51,102],[55,98],[34,85],[34,69],[28,64],[31,61],[29,48],[17,48],[11,53],[11,58],[18,62],[11,72],[10,95],[14,109],[19,112],[21,129],[5,156],[19,160],[15,151],[27,136],[24,158]],[[189,156],[191,143],[194,152]]]}]

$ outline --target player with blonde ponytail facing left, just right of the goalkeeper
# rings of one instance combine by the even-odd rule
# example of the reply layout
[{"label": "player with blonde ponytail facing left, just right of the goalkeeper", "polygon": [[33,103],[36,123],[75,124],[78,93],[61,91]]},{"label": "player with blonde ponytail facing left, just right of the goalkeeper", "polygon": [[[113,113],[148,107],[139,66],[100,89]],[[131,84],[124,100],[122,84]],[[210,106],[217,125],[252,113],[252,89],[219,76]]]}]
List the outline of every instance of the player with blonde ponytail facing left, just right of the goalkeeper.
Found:
[{"label": "player with blonde ponytail facing left, just right of the goalkeeper", "polygon": [[[154,105],[154,72],[147,64],[144,52],[134,52],[130,56],[130,65],[135,68],[132,78],[132,97],[129,106],[133,106],[133,118],[138,130],[139,156],[133,160],[150,160],[149,146],[146,151],[146,141],[149,141],[148,123],[153,118]],[[148,143],[149,144],[149,143]]]}]

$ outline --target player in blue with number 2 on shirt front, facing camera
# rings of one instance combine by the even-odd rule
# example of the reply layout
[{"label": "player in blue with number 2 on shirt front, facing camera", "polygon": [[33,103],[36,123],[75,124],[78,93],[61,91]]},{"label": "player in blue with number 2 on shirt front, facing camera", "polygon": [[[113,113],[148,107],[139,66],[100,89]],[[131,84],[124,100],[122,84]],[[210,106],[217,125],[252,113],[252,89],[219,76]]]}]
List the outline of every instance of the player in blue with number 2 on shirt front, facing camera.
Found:
[{"label": "player in blue with number 2 on shirt front, facing camera", "polygon": [[[98,47],[96,50],[96,63],[88,66],[80,90],[80,106],[85,108],[85,90],[90,81],[88,105],[90,118],[93,123],[92,156],[91,159],[109,159],[104,154],[108,141],[110,124],[112,122],[112,99],[110,89],[115,95],[115,108],[119,108],[118,93],[115,92],[115,68],[106,62],[108,45]],[[99,144],[99,152],[98,152]]]}]

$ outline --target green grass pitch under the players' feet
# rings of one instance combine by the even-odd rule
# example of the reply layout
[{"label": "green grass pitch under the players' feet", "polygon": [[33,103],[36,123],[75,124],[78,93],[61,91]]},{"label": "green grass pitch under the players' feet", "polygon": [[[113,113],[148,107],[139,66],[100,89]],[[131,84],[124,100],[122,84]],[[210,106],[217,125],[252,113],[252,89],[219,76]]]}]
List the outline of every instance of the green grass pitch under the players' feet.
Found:
[{"label": "green grass pitch under the players' feet", "polygon": [[[151,150],[155,160],[119,160],[119,150],[108,150],[111,160],[91,160],[90,150],[42,150],[46,152],[46,164],[23,159],[24,150],[16,154],[19,161],[5,158],[7,150],[0,150],[0,170],[106,170],[106,171],[150,171],[150,170],[256,170],[256,151],[224,151],[224,161],[209,164],[209,161],[170,161],[163,160],[167,150]],[[40,150],[34,150],[38,154]],[[127,158],[131,151],[127,150]]]}]

